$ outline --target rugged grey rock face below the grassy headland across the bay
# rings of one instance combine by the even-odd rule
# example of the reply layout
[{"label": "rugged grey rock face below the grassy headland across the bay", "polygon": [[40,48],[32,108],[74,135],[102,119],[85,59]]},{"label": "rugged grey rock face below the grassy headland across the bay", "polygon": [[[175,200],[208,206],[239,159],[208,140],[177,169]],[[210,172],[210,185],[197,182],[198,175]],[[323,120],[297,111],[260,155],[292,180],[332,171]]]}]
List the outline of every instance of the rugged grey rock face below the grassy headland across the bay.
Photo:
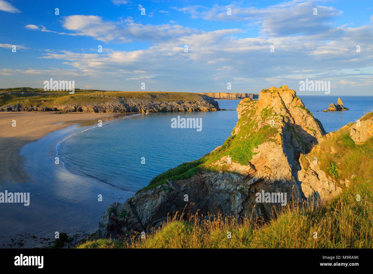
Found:
[{"label": "rugged grey rock face below the grassy headland across the bay", "polygon": [[[217,111],[219,104],[208,96],[201,95],[195,101],[186,100],[145,100],[136,98],[122,98],[106,95],[87,94],[91,98],[103,98],[102,103],[76,103],[59,104],[53,107],[23,107],[20,104],[1,107],[0,111],[66,111],[66,112],[90,112],[90,113],[129,113],[129,112],[170,112],[170,111]],[[89,100],[88,100],[89,102]]]}]

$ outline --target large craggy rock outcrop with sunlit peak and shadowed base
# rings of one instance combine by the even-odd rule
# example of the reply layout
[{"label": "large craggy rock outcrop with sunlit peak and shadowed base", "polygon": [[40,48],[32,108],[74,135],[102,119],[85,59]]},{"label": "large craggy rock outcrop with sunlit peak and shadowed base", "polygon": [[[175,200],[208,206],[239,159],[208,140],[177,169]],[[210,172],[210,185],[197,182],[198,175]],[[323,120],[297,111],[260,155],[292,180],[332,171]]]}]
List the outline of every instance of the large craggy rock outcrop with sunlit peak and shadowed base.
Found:
[{"label": "large craggy rock outcrop with sunlit peak and shadowed base", "polygon": [[[286,203],[295,206],[303,203],[299,155],[307,154],[323,139],[325,130],[321,123],[286,85],[264,89],[259,100],[241,100],[237,112],[239,120],[230,142],[241,144],[250,136],[259,138],[264,129],[271,132],[260,135],[263,140],[253,148],[247,164],[218,154],[221,157],[209,167],[223,171],[205,169],[185,180],[169,180],[154,189],[140,190],[123,204],[114,203],[107,208],[99,223],[100,236],[150,232],[162,226],[167,214],[176,211],[194,214],[199,210],[199,215],[204,216],[220,213],[269,220],[276,215],[280,203],[257,202],[257,193],[262,191],[286,193]],[[248,127],[249,124],[254,126]],[[222,149],[218,147],[214,152]]]}]

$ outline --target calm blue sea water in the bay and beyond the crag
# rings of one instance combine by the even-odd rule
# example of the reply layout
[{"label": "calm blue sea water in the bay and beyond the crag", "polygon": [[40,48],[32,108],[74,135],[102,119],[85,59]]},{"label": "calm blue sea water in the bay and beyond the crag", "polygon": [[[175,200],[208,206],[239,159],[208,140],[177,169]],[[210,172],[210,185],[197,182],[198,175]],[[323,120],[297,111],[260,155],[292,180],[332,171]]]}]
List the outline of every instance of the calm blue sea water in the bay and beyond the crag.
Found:
[{"label": "calm blue sea water in the bay and beyond the crag", "polygon": [[[373,108],[373,97],[342,97],[348,111],[324,113],[338,96],[300,96],[327,132],[354,122]],[[137,191],[158,174],[197,160],[222,145],[238,120],[240,100],[217,100],[234,111],[151,113],[95,127],[57,145],[65,168],[120,189]],[[319,110],[319,112],[317,112]],[[202,130],[171,128],[171,119],[201,118]],[[142,157],[145,164],[141,164]]]}]

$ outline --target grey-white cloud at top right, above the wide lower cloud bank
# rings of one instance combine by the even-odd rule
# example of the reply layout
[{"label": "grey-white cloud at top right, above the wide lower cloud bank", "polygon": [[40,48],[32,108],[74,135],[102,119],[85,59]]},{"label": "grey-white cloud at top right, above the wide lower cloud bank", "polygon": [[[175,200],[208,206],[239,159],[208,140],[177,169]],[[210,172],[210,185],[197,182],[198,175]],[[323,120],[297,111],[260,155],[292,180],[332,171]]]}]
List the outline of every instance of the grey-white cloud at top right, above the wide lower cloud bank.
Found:
[{"label": "grey-white cloud at top right, above the wide lower cloud bank", "polygon": [[[315,7],[318,9],[318,15],[313,15]],[[228,8],[231,9],[231,15],[227,14]],[[259,26],[264,35],[275,37],[326,31],[331,27],[333,19],[342,15],[342,12],[334,7],[320,6],[313,1],[288,1],[262,9],[254,6],[244,7],[237,2],[226,6],[215,4],[211,8],[196,5],[174,9],[189,13],[193,19],[248,21]]]}]

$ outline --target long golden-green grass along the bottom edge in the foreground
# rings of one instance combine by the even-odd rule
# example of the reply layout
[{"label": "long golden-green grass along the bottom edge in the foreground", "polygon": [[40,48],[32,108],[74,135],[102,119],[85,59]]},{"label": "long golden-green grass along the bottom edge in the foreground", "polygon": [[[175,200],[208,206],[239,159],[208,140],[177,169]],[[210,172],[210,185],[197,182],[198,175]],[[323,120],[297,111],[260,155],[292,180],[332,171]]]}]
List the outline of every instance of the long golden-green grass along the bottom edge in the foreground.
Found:
[{"label": "long golden-green grass along the bottom edge in the foreground", "polygon": [[145,239],[88,240],[78,248],[373,248],[372,222],[372,184],[359,179],[319,210],[287,207],[265,224],[250,217],[201,221],[196,214],[188,221],[169,218]]}]

